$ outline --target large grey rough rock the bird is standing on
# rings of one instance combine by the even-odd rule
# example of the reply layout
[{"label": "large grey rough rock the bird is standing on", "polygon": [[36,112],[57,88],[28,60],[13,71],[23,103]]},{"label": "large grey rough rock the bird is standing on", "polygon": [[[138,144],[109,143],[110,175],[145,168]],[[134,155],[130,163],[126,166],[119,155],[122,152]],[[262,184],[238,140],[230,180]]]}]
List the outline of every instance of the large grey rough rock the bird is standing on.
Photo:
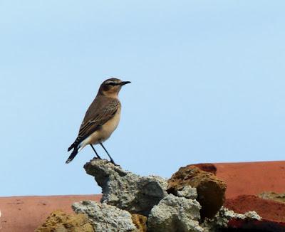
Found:
[{"label": "large grey rough rock the bird is standing on", "polygon": [[160,176],[138,176],[105,159],[93,159],[84,168],[102,188],[101,202],[147,216],[167,195],[167,181]]}]

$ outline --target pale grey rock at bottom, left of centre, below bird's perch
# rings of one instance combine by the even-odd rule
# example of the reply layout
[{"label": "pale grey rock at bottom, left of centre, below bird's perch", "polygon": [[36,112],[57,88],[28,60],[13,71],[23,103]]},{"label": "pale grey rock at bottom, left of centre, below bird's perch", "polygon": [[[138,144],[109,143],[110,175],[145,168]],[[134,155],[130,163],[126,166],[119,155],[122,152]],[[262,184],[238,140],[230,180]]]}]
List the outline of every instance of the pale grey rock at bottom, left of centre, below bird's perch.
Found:
[{"label": "pale grey rock at bottom, left of centre, below bird's perch", "polygon": [[72,209],[76,213],[85,213],[95,231],[138,231],[130,213],[115,206],[100,204],[96,201],[81,201],[81,203],[74,203]]}]

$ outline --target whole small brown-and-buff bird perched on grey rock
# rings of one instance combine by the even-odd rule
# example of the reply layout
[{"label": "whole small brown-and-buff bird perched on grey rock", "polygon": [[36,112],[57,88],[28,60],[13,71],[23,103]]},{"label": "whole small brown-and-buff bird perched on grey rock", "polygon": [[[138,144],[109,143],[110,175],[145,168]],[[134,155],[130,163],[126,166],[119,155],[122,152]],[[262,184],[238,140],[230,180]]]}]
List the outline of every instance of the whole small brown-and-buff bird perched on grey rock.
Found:
[{"label": "whole small brown-and-buff bird perched on grey rock", "polygon": [[105,149],[103,142],[107,140],[120,122],[121,103],[118,94],[123,85],[130,81],[123,81],[118,78],[109,78],[100,85],[98,93],[93,102],[88,107],[83,122],[79,128],[78,137],[68,147],[68,152],[73,149],[71,155],[66,160],[70,163],[76,154],[84,147],[90,145],[98,159],[101,157],[96,152],[93,145],[100,144],[110,158],[110,162],[115,164],[109,152]]}]

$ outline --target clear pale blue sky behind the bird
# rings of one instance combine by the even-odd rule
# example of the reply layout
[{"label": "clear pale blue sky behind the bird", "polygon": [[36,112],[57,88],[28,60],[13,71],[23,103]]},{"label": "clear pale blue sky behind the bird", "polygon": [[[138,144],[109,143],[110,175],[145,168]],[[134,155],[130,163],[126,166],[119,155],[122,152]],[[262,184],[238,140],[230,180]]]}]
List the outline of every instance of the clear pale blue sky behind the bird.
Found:
[{"label": "clear pale blue sky behind the bird", "polygon": [[[285,1],[0,1],[0,196],[98,194],[67,148],[100,83],[130,80],[105,147],[170,177],[285,157]],[[98,152],[107,157],[98,147]]]}]

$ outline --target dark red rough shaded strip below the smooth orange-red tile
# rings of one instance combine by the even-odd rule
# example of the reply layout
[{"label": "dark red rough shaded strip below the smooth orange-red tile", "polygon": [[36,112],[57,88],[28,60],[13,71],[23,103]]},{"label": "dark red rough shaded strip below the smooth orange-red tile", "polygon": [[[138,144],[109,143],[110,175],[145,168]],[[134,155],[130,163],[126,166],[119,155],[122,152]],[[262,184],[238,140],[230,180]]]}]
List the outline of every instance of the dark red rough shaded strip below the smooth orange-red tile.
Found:
[{"label": "dark red rough shaded strip below the smooth orange-red tile", "polygon": [[285,204],[272,200],[260,199],[258,196],[243,195],[227,199],[225,207],[237,213],[257,211],[264,219],[285,223]]}]

